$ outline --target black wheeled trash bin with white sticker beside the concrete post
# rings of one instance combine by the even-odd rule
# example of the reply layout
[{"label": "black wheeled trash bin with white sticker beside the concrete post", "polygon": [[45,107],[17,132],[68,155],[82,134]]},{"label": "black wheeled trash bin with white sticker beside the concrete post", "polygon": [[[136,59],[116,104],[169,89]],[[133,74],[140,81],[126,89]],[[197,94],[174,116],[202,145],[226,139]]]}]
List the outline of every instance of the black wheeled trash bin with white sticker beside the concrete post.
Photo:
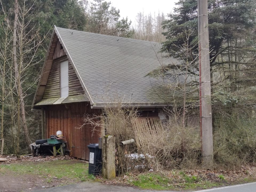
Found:
[{"label": "black wheeled trash bin with white sticker beside the concrete post", "polygon": [[101,149],[99,149],[99,143],[90,143],[87,147],[90,151],[89,174],[99,175],[102,169]]}]

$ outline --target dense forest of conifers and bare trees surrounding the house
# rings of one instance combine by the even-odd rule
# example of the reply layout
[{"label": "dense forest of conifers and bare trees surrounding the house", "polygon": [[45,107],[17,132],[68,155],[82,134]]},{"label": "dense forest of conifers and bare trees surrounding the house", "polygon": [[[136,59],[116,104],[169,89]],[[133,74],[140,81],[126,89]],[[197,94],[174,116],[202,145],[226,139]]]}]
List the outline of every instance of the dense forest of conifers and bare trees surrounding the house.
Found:
[{"label": "dense forest of conifers and bare trees surrounding the house", "polygon": [[[247,129],[255,128],[255,10],[255,0],[208,1],[214,150],[220,162],[225,155],[235,154],[234,162],[242,159],[239,154],[250,161],[256,155],[256,131]],[[0,138],[6,139],[5,153],[24,154],[41,137],[41,112],[31,111],[31,105],[54,25],[162,43],[161,51],[181,62],[149,76],[198,75],[197,0],[178,1],[168,15],[138,13],[135,23],[103,0],[0,0]],[[182,90],[183,98],[198,94],[197,81],[187,81],[184,90],[177,82],[165,86]]]}]

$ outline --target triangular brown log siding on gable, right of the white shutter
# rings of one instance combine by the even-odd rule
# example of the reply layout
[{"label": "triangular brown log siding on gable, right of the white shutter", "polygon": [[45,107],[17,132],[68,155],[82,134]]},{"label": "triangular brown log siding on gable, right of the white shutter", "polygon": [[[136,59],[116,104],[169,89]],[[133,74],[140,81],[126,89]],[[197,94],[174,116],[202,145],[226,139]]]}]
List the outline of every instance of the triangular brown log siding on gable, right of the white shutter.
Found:
[{"label": "triangular brown log siding on gable, right of the white shutter", "polygon": [[85,94],[81,83],[75,73],[73,66],[69,61],[69,96]]}]

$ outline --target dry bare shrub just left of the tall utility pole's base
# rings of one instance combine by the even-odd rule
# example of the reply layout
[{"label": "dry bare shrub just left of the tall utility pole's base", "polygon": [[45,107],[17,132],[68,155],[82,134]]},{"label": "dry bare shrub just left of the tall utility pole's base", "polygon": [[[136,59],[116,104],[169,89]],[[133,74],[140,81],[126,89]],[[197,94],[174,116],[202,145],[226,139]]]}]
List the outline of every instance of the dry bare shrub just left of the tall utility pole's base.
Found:
[{"label": "dry bare shrub just left of the tall utility pole's base", "polygon": [[183,127],[179,114],[169,115],[166,122],[159,121],[162,129],[149,135],[150,142],[138,147],[138,152],[153,156],[145,155],[154,170],[197,166],[201,146],[199,127],[192,124]]}]

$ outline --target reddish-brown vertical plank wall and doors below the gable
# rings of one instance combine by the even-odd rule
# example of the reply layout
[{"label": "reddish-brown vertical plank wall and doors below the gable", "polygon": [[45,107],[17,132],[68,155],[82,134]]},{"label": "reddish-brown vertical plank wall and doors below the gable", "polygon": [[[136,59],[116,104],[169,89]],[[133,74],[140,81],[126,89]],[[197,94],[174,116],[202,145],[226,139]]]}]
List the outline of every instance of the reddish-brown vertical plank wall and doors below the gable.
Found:
[{"label": "reddish-brown vertical plank wall and doors below the gable", "polygon": [[90,143],[98,143],[101,137],[101,127],[93,133],[93,127],[85,125],[82,129],[76,129],[83,124],[84,114],[99,114],[101,110],[91,109],[89,102],[72,103],[67,105],[49,106],[46,113],[46,136],[55,135],[61,130],[66,137],[70,154],[73,157],[89,160]]}]

